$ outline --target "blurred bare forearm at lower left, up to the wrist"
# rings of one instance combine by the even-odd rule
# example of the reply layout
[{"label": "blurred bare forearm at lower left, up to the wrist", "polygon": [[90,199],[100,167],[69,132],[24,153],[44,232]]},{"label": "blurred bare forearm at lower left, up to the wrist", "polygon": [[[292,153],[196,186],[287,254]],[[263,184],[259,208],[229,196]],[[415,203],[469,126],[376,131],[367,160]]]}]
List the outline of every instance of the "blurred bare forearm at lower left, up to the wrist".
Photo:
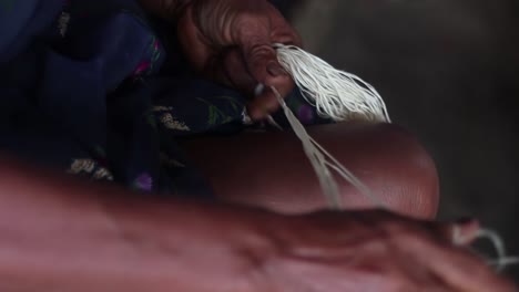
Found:
[{"label": "blurred bare forearm at lower left, up to the wrist", "polygon": [[0,290],[250,291],[250,259],[269,252],[261,226],[274,217],[2,164]]}]

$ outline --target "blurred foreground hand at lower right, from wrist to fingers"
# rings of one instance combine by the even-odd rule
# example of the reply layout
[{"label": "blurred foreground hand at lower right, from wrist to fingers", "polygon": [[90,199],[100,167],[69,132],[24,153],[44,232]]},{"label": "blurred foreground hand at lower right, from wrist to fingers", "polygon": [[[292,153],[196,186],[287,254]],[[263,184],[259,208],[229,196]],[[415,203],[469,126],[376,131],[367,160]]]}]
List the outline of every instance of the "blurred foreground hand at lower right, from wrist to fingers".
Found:
[{"label": "blurred foreground hand at lower right, from wrist to fingers", "polygon": [[455,228],[468,244],[479,226],[420,222],[384,211],[295,218],[279,230],[276,252],[255,274],[256,291],[516,291],[452,244]]}]

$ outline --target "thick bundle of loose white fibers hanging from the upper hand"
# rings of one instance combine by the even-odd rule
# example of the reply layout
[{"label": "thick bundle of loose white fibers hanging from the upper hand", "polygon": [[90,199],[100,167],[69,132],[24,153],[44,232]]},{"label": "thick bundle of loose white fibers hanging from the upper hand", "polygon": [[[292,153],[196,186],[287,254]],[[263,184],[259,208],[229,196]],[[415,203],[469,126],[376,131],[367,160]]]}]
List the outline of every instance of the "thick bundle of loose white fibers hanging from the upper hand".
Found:
[{"label": "thick bundle of loose white fibers hanging from the upper hand", "polygon": [[274,48],[279,63],[320,116],[336,122],[390,122],[380,94],[360,77],[336,70],[297,46],[274,44]]}]

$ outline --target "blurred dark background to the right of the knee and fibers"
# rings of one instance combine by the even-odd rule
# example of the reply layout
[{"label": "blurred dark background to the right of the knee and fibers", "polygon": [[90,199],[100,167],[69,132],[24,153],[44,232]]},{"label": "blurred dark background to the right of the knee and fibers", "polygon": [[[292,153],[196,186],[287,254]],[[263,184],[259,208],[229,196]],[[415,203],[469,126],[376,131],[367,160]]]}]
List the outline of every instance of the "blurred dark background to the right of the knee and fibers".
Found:
[{"label": "blurred dark background to the right of the knee and fibers", "polygon": [[306,50],[375,85],[428,148],[440,219],[477,217],[519,254],[519,1],[274,2]]}]

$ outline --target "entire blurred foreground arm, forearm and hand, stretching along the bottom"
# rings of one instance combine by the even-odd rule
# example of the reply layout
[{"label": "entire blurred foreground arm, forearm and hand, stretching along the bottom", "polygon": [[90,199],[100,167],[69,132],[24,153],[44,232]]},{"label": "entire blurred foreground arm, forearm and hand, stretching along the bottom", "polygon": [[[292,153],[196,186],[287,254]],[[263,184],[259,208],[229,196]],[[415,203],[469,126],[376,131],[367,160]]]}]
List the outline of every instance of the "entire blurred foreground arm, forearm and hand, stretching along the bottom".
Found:
[{"label": "entire blurred foreground arm, forearm and hand, stretching along the bottom", "polygon": [[516,291],[460,247],[477,222],[283,216],[128,194],[0,163],[0,290]]}]

